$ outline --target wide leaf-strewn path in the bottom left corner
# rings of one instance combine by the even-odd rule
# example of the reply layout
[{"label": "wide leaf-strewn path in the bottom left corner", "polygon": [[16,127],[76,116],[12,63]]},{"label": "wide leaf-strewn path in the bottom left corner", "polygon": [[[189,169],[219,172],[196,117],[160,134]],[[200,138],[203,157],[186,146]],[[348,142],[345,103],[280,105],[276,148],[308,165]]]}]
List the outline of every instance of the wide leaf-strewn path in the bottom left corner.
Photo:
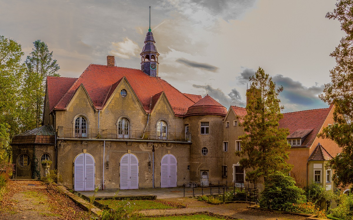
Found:
[{"label": "wide leaf-strewn path in the bottom left corner", "polygon": [[8,181],[0,203],[0,219],[52,220],[89,219],[70,198],[55,190],[47,190],[40,181]]}]

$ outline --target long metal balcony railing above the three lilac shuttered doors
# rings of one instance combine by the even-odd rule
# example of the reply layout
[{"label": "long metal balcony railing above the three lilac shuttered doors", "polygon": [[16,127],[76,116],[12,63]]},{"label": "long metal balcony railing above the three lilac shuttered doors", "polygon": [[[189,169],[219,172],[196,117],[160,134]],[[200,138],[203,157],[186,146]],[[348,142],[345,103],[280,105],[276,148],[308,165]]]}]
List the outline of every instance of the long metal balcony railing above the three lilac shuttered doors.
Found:
[{"label": "long metal balcony railing above the three lilac shuttered doors", "polygon": [[84,129],[58,128],[58,138],[88,138],[88,139],[134,139],[191,142],[191,133],[157,132],[143,130],[116,129]]}]

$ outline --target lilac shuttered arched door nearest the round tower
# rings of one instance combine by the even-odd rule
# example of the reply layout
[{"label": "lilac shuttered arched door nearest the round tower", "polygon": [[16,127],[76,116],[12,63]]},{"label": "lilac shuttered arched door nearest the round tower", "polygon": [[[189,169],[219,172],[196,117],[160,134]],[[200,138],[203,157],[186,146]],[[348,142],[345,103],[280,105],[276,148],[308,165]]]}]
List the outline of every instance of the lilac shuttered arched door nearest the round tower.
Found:
[{"label": "lilac shuttered arched door nearest the round tower", "polygon": [[177,187],[177,159],[166,154],[161,160],[161,188]]}]

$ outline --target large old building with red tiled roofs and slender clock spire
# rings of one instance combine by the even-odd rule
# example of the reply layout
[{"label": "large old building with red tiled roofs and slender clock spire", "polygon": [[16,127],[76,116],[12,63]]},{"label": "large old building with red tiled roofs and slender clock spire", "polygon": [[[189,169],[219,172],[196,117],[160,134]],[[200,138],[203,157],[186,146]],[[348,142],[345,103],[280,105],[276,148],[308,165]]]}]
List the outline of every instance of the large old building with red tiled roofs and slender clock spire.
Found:
[{"label": "large old building with red tiled roofs and slender clock spire", "polygon": [[[30,178],[33,163],[49,159],[61,184],[77,191],[245,183],[234,154],[245,108],[227,111],[208,95],[180,92],[158,77],[150,30],[144,42],[141,70],[107,56],[107,65],[91,64],[79,78],[47,78],[43,126],[12,142],[16,178]],[[280,122],[289,128],[291,175],[301,186],[331,185],[324,165],[340,149],[316,135],[333,123],[332,112],[285,113]]]}]

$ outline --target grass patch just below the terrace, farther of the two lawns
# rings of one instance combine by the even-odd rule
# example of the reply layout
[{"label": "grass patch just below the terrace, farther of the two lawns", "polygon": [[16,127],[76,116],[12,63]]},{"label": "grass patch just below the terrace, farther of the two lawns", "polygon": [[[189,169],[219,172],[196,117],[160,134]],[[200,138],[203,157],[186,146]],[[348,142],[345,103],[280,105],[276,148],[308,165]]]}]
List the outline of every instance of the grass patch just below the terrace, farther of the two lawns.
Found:
[{"label": "grass patch just below the terrace, farther of the two lawns", "polygon": [[[98,202],[108,205],[110,208],[115,209],[117,207],[125,206],[128,210],[143,210],[143,209],[167,209],[177,208],[168,206],[155,200],[99,200]],[[130,204],[129,204],[130,203]]]}]

